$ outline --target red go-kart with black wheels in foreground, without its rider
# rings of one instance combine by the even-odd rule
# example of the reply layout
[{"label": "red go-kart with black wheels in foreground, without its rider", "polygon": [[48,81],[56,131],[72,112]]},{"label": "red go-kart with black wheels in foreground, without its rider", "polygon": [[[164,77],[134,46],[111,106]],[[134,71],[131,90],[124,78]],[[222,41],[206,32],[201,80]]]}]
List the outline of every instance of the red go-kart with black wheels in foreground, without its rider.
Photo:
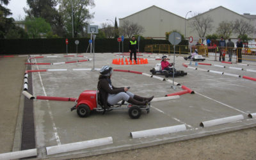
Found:
[{"label": "red go-kart with black wheels in foreground, without its rider", "polygon": [[105,113],[105,111],[112,111],[114,109],[128,109],[129,116],[133,119],[140,118],[141,110],[145,110],[147,113],[150,111],[150,102],[148,102],[146,106],[136,106],[134,104],[129,104],[124,100],[105,109],[99,104],[98,95],[96,90],[85,90],[79,95],[76,100],[76,105],[71,108],[71,111],[77,109],[77,115],[80,117],[87,117],[93,110]]}]

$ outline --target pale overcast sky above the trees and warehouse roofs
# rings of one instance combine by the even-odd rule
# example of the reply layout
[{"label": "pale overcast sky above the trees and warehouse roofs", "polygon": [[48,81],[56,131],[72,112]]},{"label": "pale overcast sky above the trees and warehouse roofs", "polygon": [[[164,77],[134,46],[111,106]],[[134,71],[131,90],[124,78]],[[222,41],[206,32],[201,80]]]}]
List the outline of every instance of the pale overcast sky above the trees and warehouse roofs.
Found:
[{"label": "pale overcast sky above the trees and warehouse roofs", "polygon": [[[185,17],[186,13],[191,10],[192,13],[189,13],[187,18],[194,13],[203,13],[218,6],[223,6],[239,14],[250,13],[251,15],[256,15],[255,0],[95,0],[94,2],[95,7],[89,9],[91,13],[94,13],[94,18],[91,21],[95,25],[100,25],[102,22],[113,24],[106,19],[111,19],[115,22],[115,17],[118,20],[152,5],[181,17]],[[7,6],[13,13],[12,17],[15,20],[25,17],[24,7],[28,8],[26,0],[11,0]]]}]

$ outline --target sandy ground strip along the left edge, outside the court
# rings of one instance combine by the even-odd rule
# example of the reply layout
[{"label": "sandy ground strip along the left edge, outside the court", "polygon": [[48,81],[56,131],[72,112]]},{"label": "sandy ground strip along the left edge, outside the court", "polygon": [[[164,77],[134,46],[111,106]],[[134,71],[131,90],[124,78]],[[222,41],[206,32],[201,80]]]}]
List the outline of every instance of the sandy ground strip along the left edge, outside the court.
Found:
[{"label": "sandy ground strip along the left edge, outside the court", "polygon": [[0,153],[12,151],[25,61],[17,56],[0,58]]}]

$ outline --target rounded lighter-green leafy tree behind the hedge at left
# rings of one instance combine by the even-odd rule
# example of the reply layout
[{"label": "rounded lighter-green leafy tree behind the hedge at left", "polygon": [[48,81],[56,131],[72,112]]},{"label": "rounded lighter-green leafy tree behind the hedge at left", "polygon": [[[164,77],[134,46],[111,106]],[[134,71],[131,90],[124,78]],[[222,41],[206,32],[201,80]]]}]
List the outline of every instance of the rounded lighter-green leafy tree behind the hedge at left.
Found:
[{"label": "rounded lighter-green leafy tree behind the hedge at left", "polygon": [[51,25],[42,18],[29,18],[25,20],[29,38],[40,38],[42,34],[51,31]]}]

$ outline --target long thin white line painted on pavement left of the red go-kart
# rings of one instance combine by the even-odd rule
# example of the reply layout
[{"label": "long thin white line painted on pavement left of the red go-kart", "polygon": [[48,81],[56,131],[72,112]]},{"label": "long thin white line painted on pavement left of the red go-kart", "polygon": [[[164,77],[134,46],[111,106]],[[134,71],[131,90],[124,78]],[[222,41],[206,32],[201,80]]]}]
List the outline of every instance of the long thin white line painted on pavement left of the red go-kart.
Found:
[{"label": "long thin white line painted on pavement left of the red go-kart", "polygon": [[[36,60],[35,60],[36,61]],[[37,69],[39,70],[38,68],[38,65],[36,65]],[[40,79],[40,83],[42,85],[42,89],[44,91],[44,95],[47,96],[46,92],[45,92],[45,88],[44,88],[44,84],[43,84],[43,81],[42,81],[42,77],[41,77],[41,74],[40,72],[38,72],[38,76],[39,76],[39,79]],[[53,132],[54,132],[54,135],[55,135],[55,138],[56,138],[56,141],[58,143],[58,145],[61,145],[61,142],[60,142],[60,136],[58,134],[58,129],[54,123],[54,120],[53,120],[53,116],[52,116],[52,111],[51,111],[51,106],[49,104],[49,100],[46,100],[47,101],[47,107],[48,107],[48,110],[49,110],[49,115],[51,117],[51,120],[52,120],[52,129],[53,129]]]}]

